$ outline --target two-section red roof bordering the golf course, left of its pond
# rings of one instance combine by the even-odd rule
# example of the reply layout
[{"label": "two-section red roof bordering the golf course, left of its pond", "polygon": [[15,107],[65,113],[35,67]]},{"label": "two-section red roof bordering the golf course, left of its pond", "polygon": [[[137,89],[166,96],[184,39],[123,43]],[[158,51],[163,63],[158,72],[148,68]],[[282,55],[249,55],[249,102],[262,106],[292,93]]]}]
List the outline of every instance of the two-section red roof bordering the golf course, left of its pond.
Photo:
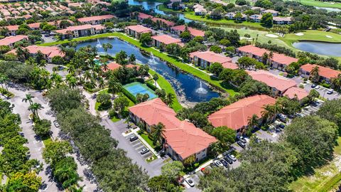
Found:
[{"label": "two-section red roof bordering the golf course, left of its pond", "polygon": [[[264,53],[268,53],[268,54],[270,53],[270,51],[266,50],[265,48],[258,48],[256,46],[251,46],[251,45],[237,48],[237,50],[245,52],[245,53],[251,53],[252,55],[256,55],[258,57],[263,56]],[[292,58],[292,57],[279,54],[279,53],[274,53],[274,56],[271,60],[273,60],[276,63],[283,64],[283,65],[289,65],[290,63],[298,61],[297,58]]]}]

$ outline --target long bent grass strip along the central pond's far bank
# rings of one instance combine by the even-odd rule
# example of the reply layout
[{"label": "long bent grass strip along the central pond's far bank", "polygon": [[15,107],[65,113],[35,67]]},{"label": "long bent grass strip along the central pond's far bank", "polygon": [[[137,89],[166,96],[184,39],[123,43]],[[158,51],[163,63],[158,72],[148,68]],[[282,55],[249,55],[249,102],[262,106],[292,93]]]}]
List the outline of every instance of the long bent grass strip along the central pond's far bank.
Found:
[{"label": "long bent grass strip along the central pond's far bank", "polygon": [[202,80],[209,82],[210,85],[213,85],[213,86],[219,88],[220,90],[224,90],[224,91],[228,92],[229,95],[233,96],[237,93],[234,90],[230,89],[230,87],[223,87],[221,80],[214,80],[207,73],[204,73],[201,70],[198,70],[196,68],[191,67],[190,65],[187,65],[187,64],[181,62],[180,60],[178,60],[177,58],[172,58],[172,57],[166,55],[165,53],[161,53],[160,51],[155,50],[154,48],[143,46],[142,43],[140,43],[139,41],[137,41],[134,38],[131,38],[129,36],[125,36],[123,33],[118,33],[118,32],[104,33],[104,34],[99,34],[99,35],[95,35],[95,36],[73,38],[72,40],[63,40],[63,41],[55,41],[52,43],[43,43],[43,44],[40,44],[39,46],[54,46],[54,45],[60,45],[63,43],[70,43],[70,41],[87,41],[87,40],[94,39],[94,38],[106,38],[106,37],[110,37],[110,36],[115,36],[117,38],[121,38],[121,40],[123,40],[123,41],[131,43],[132,45],[134,45],[138,48],[141,48],[141,49],[143,49],[149,53],[151,52],[151,53],[153,53],[153,55],[155,55],[158,58],[161,58],[163,60],[166,60],[169,63],[172,63],[173,65],[180,68],[181,70],[184,70],[187,73],[191,73],[192,75],[195,75],[197,78],[200,78]]}]

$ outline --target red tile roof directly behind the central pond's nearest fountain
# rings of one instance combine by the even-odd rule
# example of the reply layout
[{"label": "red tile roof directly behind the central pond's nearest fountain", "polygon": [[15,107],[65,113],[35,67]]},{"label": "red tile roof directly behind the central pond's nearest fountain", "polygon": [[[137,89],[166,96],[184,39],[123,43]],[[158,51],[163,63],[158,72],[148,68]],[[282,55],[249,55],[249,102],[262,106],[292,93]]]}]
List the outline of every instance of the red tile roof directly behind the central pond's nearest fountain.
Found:
[{"label": "red tile roof directly behind the central pond's nearest fountain", "polygon": [[226,68],[232,68],[232,69],[238,68],[236,64],[232,63],[232,58],[225,57],[224,55],[220,55],[210,50],[195,51],[195,52],[190,53],[190,58],[194,58],[194,57],[200,58],[202,60],[206,60],[210,63],[217,62],[217,63],[221,63],[222,65],[226,64],[225,65]]}]

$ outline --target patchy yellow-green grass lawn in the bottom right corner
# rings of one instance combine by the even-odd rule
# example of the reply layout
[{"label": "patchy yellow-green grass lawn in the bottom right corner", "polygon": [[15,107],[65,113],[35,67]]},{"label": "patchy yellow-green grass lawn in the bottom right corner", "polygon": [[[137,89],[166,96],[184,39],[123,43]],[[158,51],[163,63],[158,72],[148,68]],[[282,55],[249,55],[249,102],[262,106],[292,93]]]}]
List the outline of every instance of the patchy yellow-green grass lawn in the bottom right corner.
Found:
[{"label": "patchy yellow-green grass lawn in the bottom right corner", "polygon": [[[337,139],[339,146],[334,149],[335,159],[330,164],[315,169],[312,176],[303,176],[289,186],[292,191],[330,191],[341,181],[341,137]],[[337,168],[338,167],[338,168]]]}]

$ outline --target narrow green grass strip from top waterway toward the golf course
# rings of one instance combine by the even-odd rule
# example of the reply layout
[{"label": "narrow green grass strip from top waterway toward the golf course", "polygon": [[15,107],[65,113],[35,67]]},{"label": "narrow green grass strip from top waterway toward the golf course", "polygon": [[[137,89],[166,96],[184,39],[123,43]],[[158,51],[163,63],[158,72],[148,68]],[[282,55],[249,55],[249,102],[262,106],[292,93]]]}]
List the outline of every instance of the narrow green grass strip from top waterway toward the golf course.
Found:
[{"label": "narrow green grass strip from top waterway toward the golf course", "polygon": [[224,18],[220,19],[220,20],[214,20],[214,19],[206,18],[206,17],[202,18],[202,16],[196,16],[193,11],[188,11],[188,12],[185,12],[184,14],[185,14],[185,18],[188,18],[188,19],[191,19],[194,21],[201,21],[201,22],[205,22],[205,23],[210,23],[213,25],[217,24],[220,26],[239,26],[239,27],[247,26],[249,28],[259,29],[259,30],[263,30],[263,31],[268,30],[268,28],[261,26],[261,23],[253,23],[253,22],[249,22],[249,21],[244,21],[242,23],[235,23],[233,20],[227,20]]}]

